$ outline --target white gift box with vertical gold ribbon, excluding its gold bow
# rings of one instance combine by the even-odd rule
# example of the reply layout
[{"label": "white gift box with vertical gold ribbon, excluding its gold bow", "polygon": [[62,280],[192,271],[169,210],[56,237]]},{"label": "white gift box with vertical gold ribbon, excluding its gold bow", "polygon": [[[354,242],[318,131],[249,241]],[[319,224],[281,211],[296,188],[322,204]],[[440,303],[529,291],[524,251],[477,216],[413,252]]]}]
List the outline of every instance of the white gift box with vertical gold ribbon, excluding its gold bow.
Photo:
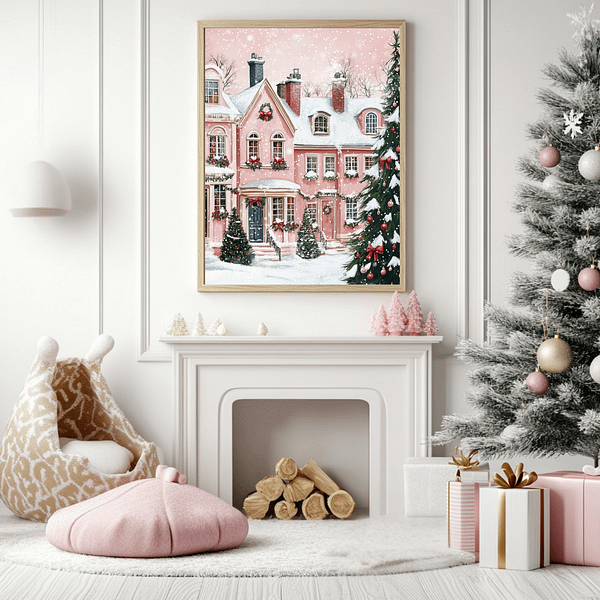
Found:
[{"label": "white gift box with vertical gold ribbon, excluding its gold bow", "polygon": [[531,571],[550,564],[550,492],[479,490],[479,566]]}]

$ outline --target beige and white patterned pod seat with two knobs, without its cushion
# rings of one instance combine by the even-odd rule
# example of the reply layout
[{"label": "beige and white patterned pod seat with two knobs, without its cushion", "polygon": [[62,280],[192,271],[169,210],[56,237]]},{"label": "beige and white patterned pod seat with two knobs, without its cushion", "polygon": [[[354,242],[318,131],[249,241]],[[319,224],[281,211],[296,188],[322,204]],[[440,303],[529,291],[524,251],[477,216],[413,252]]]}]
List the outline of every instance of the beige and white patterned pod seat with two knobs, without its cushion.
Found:
[{"label": "beige and white patterned pod seat with two knobs, without its cushion", "polygon": [[[154,477],[155,445],[134,431],[100,372],[113,345],[101,335],[84,359],[57,361],[58,344],[50,337],[38,342],[0,448],[0,497],[17,516],[45,522],[59,508]],[[113,440],[133,454],[130,470],[101,473],[87,458],[64,454],[59,437]]]}]

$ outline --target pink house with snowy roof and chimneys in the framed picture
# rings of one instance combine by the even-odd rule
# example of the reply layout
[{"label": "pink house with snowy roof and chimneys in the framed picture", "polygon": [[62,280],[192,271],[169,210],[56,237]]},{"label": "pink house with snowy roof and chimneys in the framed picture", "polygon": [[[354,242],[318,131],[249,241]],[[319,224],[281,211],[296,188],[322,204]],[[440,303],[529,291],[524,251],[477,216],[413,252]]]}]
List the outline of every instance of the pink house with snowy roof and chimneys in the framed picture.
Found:
[{"label": "pink house with snowy roof and chimneys in the framed picture", "polygon": [[300,69],[272,82],[266,61],[248,57],[248,87],[231,97],[222,70],[205,66],[205,249],[219,255],[236,207],[257,260],[294,254],[308,207],[322,251],[343,252],[357,226],[361,178],[374,167],[382,102],[349,97],[333,72],[327,96],[307,97]]}]

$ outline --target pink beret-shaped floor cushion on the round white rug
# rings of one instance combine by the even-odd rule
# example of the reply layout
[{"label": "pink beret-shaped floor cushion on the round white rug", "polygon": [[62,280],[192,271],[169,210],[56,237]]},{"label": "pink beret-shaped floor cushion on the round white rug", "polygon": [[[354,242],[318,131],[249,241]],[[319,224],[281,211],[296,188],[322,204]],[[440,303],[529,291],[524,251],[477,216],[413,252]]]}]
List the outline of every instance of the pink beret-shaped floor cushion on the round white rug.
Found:
[{"label": "pink beret-shaped floor cushion on the round white rug", "polygon": [[185,484],[161,465],[156,478],[132,481],[56,511],[48,541],[67,552],[150,558],[239,546],[248,520],[220,498]]}]

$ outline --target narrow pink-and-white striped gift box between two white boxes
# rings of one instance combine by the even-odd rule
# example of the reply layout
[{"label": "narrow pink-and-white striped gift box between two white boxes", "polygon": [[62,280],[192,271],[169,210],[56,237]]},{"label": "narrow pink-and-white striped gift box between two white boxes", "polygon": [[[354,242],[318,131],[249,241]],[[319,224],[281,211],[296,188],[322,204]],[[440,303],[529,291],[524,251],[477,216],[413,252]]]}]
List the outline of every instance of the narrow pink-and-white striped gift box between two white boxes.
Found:
[{"label": "narrow pink-and-white striped gift box between two white boxes", "polygon": [[479,554],[479,483],[448,482],[448,546]]}]

